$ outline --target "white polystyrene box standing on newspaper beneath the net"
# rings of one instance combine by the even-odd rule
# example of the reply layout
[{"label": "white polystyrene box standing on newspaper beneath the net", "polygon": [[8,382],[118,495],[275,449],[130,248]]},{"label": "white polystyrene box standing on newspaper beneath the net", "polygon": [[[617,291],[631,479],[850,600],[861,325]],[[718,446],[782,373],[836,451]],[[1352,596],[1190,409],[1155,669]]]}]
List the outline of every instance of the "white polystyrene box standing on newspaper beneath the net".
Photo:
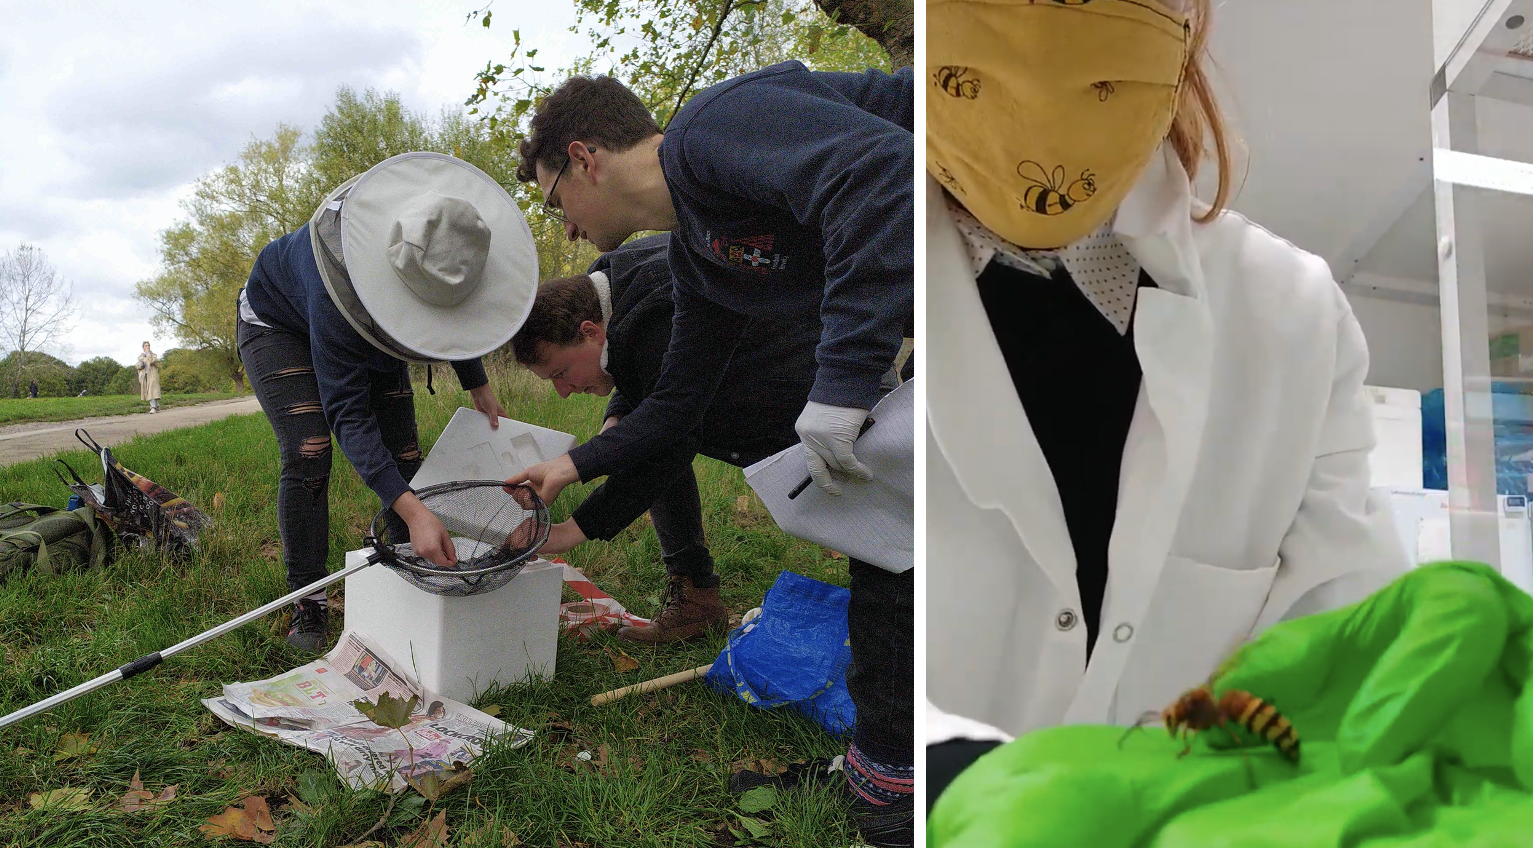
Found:
[{"label": "white polystyrene box standing on newspaper beneath the net", "polygon": [[[347,552],[347,566],[370,551]],[[347,577],[347,629],[368,635],[422,687],[472,703],[492,686],[554,678],[565,571],[529,562],[503,588],[472,597],[428,594],[385,565]]]}]

